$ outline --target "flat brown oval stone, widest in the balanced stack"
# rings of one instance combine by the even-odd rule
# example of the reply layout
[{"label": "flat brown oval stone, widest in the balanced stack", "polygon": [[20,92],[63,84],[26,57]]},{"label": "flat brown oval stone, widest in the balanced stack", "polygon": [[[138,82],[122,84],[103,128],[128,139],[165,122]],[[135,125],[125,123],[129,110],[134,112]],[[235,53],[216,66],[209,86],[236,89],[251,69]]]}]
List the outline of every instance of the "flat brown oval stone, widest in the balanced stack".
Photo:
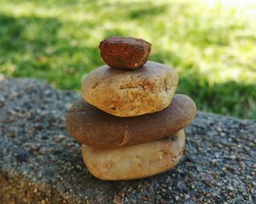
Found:
[{"label": "flat brown oval stone, widest in the balanced stack", "polygon": [[81,99],[67,114],[67,130],[82,144],[117,148],[171,136],[187,127],[195,114],[195,103],[187,95],[174,95],[166,109],[138,117],[115,117]]}]

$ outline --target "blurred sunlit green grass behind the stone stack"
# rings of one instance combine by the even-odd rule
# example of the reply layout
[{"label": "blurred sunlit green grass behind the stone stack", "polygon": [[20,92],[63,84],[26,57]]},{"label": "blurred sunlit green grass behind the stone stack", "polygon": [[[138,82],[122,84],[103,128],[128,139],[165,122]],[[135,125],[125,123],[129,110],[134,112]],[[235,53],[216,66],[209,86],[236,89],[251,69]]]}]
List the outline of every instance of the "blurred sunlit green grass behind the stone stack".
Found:
[{"label": "blurred sunlit green grass behind the stone stack", "polygon": [[135,36],[203,111],[256,119],[255,1],[0,0],[0,72],[79,90],[98,44]]}]

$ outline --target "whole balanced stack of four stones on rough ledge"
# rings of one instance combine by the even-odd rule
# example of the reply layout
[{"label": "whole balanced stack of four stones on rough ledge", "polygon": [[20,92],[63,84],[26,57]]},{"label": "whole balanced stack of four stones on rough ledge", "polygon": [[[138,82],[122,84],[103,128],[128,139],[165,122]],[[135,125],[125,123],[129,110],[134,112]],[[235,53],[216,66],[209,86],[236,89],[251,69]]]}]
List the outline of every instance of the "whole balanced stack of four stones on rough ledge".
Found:
[{"label": "whole balanced stack of four stones on rough ledge", "polygon": [[127,180],[162,173],[184,152],[184,127],[195,103],[174,94],[178,74],[148,60],[151,44],[113,37],[100,42],[108,66],[83,80],[83,99],[67,114],[67,130],[82,144],[88,170],[103,180]]}]

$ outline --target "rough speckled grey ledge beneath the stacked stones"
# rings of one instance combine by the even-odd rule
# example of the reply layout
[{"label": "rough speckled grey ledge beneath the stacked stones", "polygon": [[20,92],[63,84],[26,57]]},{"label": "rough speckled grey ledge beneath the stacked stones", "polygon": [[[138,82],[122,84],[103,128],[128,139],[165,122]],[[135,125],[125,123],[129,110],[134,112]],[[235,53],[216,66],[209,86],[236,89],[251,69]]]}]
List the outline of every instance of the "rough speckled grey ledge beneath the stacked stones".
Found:
[{"label": "rough speckled grey ledge beneath the stacked stones", "polygon": [[0,203],[256,203],[256,122],[198,112],[181,162],[135,181],[100,181],[65,114],[80,94],[0,81]]}]

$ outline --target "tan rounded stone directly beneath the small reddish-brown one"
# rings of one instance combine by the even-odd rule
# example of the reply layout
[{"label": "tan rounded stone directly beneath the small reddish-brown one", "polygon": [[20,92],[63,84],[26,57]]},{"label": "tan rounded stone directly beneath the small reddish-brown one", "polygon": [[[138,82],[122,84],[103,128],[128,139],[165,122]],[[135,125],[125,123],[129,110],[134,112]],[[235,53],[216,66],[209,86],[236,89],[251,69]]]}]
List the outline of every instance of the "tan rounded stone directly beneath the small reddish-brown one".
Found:
[{"label": "tan rounded stone directly beneath the small reddish-brown one", "polygon": [[83,98],[98,109],[118,117],[161,111],[169,106],[178,85],[173,68],[148,61],[133,71],[102,66],[82,84]]}]

